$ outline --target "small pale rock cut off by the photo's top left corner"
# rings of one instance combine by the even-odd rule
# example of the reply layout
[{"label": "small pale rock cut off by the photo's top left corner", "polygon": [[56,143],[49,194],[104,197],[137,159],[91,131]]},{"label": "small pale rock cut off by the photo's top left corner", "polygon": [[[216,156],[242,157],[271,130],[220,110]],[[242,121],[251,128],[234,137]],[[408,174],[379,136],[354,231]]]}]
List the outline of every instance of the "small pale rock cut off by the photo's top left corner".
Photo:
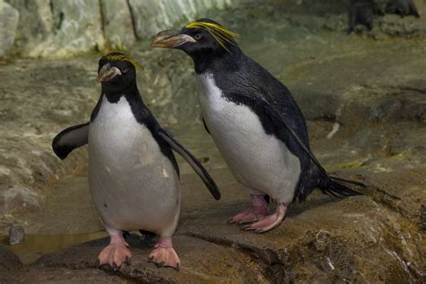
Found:
[{"label": "small pale rock cut off by the photo's top left corner", "polygon": [[0,1],[0,57],[13,46],[19,13],[10,4]]}]

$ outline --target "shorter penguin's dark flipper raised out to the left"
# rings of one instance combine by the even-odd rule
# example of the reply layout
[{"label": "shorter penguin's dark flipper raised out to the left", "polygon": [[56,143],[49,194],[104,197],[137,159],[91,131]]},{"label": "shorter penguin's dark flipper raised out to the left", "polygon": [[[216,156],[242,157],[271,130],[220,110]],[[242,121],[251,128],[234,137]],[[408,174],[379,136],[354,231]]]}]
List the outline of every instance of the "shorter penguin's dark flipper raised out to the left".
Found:
[{"label": "shorter penguin's dark flipper raised out to the left", "polygon": [[52,149],[58,157],[63,160],[75,148],[88,143],[89,122],[78,124],[59,132],[53,138]]}]

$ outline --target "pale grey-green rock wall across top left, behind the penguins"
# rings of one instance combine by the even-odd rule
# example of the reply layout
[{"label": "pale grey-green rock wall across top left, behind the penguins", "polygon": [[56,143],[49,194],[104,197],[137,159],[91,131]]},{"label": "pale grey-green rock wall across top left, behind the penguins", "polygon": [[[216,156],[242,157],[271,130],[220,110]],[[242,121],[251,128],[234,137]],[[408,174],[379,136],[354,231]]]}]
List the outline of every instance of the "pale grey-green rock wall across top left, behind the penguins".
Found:
[{"label": "pale grey-green rock wall across top left, behind the penguins", "polygon": [[210,9],[225,9],[236,3],[235,0],[6,2],[0,2],[0,33],[8,34],[7,40],[0,43],[0,56],[12,46],[16,30],[13,53],[30,58],[129,49],[136,40],[148,40],[157,31],[193,20]]}]

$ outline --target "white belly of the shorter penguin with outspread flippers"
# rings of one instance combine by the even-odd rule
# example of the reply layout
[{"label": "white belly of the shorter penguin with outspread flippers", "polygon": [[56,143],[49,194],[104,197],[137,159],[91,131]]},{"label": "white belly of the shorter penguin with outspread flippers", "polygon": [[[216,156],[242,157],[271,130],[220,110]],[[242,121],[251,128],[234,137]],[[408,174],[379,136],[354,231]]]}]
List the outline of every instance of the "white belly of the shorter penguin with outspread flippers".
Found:
[{"label": "white belly of the shorter penguin with outspread flippers", "polygon": [[181,206],[179,179],[124,97],[117,103],[104,97],[90,124],[89,182],[106,226],[174,231]]}]

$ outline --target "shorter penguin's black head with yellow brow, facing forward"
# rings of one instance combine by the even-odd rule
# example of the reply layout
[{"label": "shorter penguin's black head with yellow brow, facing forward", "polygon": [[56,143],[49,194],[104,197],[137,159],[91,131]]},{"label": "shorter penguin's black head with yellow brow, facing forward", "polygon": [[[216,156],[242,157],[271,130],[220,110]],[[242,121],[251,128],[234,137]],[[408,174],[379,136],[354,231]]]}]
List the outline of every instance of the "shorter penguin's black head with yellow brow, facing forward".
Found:
[{"label": "shorter penguin's black head with yellow brow, facing forward", "polygon": [[102,92],[120,92],[136,84],[136,61],[120,52],[110,52],[99,59],[97,80]]}]

